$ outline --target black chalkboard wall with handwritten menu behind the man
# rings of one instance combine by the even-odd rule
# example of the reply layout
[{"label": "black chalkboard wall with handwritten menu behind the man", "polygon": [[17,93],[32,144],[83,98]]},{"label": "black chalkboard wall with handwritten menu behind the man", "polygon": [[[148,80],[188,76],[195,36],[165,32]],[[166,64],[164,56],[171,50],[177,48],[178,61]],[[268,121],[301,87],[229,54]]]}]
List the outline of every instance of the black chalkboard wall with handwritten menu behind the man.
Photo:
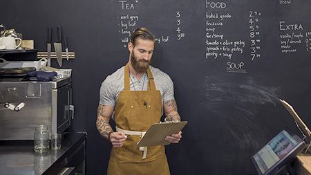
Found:
[{"label": "black chalkboard wall with handwritten menu behind the man", "polygon": [[[3,1],[0,23],[46,51],[62,26],[74,60],[74,131],[88,132],[87,172],[106,174],[111,145],[95,127],[105,77],[129,59],[140,26],[153,31],[153,66],[168,73],[182,120],[167,146],[171,174],[256,174],[250,157],[282,129],[299,134],[279,103],[311,125],[311,1]],[[56,60],[52,66],[58,68]],[[299,135],[301,136],[301,135]]]}]

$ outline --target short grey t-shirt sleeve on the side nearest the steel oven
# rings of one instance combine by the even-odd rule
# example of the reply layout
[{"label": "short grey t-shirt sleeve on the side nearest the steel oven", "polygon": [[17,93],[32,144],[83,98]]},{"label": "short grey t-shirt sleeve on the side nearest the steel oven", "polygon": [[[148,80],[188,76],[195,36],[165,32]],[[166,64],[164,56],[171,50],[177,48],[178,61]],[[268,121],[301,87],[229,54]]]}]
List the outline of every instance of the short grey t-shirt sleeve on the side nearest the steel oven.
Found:
[{"label": "short grey t-shirt sleeve on the side nearest the steel oven", "polygon": [[113,88],[113,84],[109,81],[109,77],[102,82],[102,86],[100,87],[100,104],[106,106],[115,106],[115,88]]}]

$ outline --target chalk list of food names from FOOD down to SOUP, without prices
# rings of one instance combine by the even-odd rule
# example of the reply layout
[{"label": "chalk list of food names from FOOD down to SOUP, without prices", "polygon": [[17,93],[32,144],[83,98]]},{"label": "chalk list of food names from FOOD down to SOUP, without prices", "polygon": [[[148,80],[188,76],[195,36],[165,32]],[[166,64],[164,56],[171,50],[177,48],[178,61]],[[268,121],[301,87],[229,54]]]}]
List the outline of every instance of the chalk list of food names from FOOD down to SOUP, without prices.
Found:
[{"label": "chalk list of food names from FOOD down to SOUP, without prices", "polygon": [[[227,59],[227,72],[231,73],[246,73],[243,69],[243,62],[232,62],[234,55],[241,55],[244,52],[245,41],[242,39],[231,40],[227,36],[220,33],[221,28],[229,25],[232,15],[225,12],[227,3],[206,1],[205,13],[206,18],[206,59]],[[210,12],[211,10],[218,10],[217,12]]]}]

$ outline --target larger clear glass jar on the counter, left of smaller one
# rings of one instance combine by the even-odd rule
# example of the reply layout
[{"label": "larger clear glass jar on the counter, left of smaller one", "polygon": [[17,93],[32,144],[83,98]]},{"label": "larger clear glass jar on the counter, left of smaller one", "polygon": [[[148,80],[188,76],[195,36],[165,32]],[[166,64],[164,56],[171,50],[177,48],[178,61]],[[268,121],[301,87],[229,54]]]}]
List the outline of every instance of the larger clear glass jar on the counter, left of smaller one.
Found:
[{"label": "larger clear glass jar on the counter, left of smaller one", "polygon": [[50,149],[50,133],[48,126],[39,125],[35,127],[34,150],[37,153],[44,153]]}]

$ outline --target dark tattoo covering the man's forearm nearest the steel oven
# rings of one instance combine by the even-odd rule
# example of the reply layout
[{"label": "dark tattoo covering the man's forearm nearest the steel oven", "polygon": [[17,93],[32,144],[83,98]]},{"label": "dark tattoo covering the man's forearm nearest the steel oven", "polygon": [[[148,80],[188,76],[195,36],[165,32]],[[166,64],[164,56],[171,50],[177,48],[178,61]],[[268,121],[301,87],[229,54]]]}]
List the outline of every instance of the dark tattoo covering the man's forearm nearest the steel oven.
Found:
[{"label": "dark tattoo covering the man's forearm nearest the steel oven", "polygon": [[110,140],[110,134],[113,132],[113,129],[109,125],[109,118],[104,116],[105,107],[98,107],[97,115],[102,116],[103,118],[97,118],[96,127],[100,132],[100,135]]}]

